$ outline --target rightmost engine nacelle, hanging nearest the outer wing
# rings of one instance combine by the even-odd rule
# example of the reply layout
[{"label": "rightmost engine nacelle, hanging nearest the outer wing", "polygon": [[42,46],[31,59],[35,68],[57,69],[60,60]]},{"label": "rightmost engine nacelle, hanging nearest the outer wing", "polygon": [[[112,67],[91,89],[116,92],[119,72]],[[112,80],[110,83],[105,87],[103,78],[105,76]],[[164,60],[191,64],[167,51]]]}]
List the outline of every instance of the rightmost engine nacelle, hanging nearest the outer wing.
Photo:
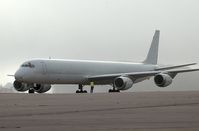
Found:
[{"label": "rightmost engine nacelle, hanging nearest the outer wing", "polygon": [[168,74],[158,74],[154,77],[154,81],[159,87],[167,87],[172,83],[173,78]]}]

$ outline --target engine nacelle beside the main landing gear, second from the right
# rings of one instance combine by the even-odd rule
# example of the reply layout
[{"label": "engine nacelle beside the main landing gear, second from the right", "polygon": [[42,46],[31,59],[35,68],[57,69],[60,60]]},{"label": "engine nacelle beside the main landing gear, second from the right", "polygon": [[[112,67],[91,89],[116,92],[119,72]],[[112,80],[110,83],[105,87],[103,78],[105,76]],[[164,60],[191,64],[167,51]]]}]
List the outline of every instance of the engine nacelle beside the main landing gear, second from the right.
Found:
[{"label": "engine nacelle beside the main landing gear, second from the right", "polygon": [[133,86],[133,81],[128,77],[118,77],[114,80],[114,87],[118,90],[128,90]]}]

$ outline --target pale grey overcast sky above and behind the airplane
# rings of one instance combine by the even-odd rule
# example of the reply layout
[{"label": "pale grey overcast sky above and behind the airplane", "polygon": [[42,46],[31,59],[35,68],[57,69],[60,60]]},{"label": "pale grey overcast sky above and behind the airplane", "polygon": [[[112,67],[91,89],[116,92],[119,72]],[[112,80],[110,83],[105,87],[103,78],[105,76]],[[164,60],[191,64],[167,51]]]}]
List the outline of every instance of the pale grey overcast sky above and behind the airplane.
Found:
[{"label": "pale grey overcast sky above and behind the airplane", "polygon": [[[199,62],[198,5],[198,0],[1,0],[0,83],[13,81],[6,74],[32,58],[142,61],[156,29],[159,63]],[[189,88],[197,89],[197,77],[191,76],[180,75],[174,87],[188,79]]]}]

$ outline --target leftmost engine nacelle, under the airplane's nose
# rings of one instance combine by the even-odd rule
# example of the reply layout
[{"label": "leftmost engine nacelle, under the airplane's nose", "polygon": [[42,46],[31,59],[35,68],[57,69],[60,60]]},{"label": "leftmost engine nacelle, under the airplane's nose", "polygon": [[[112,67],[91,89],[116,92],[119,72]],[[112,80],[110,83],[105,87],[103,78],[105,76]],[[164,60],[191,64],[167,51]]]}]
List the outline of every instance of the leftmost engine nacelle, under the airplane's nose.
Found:
[{"label": "leftmost engine nacelle, under the airplane's nose", "polygon": [[19,81],[14,81],[13,86],[15,90],[20,91],[20,92],[25,92],[30,89],[30,86],[28,84],[25,84]]}]

